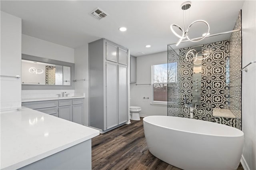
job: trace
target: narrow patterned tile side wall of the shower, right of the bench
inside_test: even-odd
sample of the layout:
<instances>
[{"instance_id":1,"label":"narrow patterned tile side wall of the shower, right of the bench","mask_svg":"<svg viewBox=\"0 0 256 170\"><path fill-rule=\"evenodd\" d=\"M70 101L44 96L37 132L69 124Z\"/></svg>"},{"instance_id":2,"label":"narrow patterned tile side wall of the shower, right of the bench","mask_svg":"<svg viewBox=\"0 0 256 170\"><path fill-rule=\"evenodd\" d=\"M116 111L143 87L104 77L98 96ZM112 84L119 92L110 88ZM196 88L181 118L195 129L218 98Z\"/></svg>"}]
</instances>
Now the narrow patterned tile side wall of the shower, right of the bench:
<instances>
[{"instance_id":1,"label":"narrow patterned tile side wall of the shower, right of the bench","mask_svg":"<svg viewBox=\"0 0 256 170\"><path fill-rule=\"evenodd\" d=\"M234 30L241 28L241 11ZM236 128L241 129L241 69L242 66L242 38L241 32L233 32L230 36L230 111L236 116Z\"/></svg>"}]
</instances>

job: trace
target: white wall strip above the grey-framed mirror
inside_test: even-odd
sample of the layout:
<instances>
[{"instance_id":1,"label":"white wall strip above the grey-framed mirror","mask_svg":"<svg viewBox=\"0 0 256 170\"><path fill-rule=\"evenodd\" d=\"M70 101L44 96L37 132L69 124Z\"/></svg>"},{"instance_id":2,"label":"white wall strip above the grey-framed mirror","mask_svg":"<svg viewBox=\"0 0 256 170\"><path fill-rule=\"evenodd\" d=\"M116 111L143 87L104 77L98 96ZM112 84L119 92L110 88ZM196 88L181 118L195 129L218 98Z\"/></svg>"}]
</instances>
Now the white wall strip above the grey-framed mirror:
<instances>
[{"instance_id":1,"label":"white wall strip above the grey-framed mirror","mask_svg":"<svg viewBox=\"0 0 256 170\"><path fill-rule=\"evenodd\" d=\"M74 63L74 49L22 34L22 53Z\"/></svg>"}]
</instances>

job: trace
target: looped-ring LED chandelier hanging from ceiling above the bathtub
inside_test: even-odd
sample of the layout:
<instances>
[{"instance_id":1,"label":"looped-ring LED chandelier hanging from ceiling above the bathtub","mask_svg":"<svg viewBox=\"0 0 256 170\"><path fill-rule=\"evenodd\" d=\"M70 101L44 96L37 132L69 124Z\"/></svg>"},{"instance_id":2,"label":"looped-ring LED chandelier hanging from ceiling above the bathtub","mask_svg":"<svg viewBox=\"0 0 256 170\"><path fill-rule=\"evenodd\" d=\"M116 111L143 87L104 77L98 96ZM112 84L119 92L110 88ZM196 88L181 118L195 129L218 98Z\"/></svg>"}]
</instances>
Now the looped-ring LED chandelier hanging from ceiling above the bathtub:
<instances>
[{"instance_id":1,"label":"looped-ring LED chandelier hanging from ceiling above the bathtub","mask_svg":"<svg viewBox=\"0 0 256 170\"><path fill-rule=\"evenodd\" d=\"M190 7L191 7L191 2L190 2L190 1L184 2L184 3L181 5L181 9L183 10L183 23L184 23L184 12L185 12L185 19L186 19L186 10L188 10ZM197 38L197 39L190 39L190 38L188 37L189 29L191 28L191 26L192 26L193 24L195 24L195 23L197 23L197 22L202 22L202 23L206 24L206 26L207 26L207 32L206 32L206 34L205 34L204 36L202 36L202 37L200 37L200 38ZM185 27L184 27L184 26L185 26ZM191 42L198 42L198 41L201 41L201 40L203 40L203 39L207 36L207 34L208 34L209 31L210 31L210 26L209 26L209 24L208 24L206 21L204 21L204 20L196 20L196 21L192 22L192 23L188 26L188 28L187 28L186 26L187 26L186 20L185 20L185 25L183 24L183 28L181 28L181 27L178 26L177 24L172 24L172 25L170 26L170 28L171 28L171 30L172 30L172 33L173 33L175 36L177 36L178 38L180 38L180 40L176 43L176 46L178 46L178 45L180 44L180 42L181 42L183 39L185 39L185 38L187 38L187 39L188 39L189 41L191 41ZM179 34L177 34L177 33L174 31L173 27L178 28L178 29L182 32L182 36L180 36Z\"/></svg>"}]
</instances>

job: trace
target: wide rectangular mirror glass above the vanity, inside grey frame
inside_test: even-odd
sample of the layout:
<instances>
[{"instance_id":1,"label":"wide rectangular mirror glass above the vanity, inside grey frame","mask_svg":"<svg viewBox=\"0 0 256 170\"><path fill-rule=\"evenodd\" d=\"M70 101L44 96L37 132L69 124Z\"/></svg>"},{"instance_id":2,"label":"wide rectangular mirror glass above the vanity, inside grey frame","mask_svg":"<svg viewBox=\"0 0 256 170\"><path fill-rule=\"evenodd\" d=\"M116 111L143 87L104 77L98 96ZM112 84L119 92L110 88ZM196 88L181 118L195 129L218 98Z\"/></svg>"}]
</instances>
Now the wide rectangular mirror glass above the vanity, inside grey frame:
<instances>
[{"instance_id":1,"label":"wide rectangular mirror glass above the vanity, inside grey frame","mask_svg":"<svg viewBox=\"0 0 256 170\"><path fill-rule=\"evenodd\" d=\"M21 81L23 85L70 86L71 68L38 61L21 60Z\"/></svg>"}]
</instances>

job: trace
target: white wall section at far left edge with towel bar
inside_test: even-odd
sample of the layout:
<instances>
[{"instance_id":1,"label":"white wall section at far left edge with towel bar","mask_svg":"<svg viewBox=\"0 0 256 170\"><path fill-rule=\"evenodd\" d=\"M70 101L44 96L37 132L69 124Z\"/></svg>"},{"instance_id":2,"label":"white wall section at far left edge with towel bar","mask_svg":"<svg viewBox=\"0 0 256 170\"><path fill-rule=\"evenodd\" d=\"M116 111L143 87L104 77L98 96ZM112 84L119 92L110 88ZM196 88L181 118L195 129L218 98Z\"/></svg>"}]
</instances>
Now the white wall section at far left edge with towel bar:
<instances>
[{"instance_id":1,"label":"white wall section at far left edge with towel bar","mask_svg":"<svg viewBox=\"0 0 256 170\"><path fill-rule=\"evenodd\" d=\"M1 11L0 75L21 76L21 19ZM1 109L21 106L21 80L1 77Z\"/></svg>"}]
</instances>

